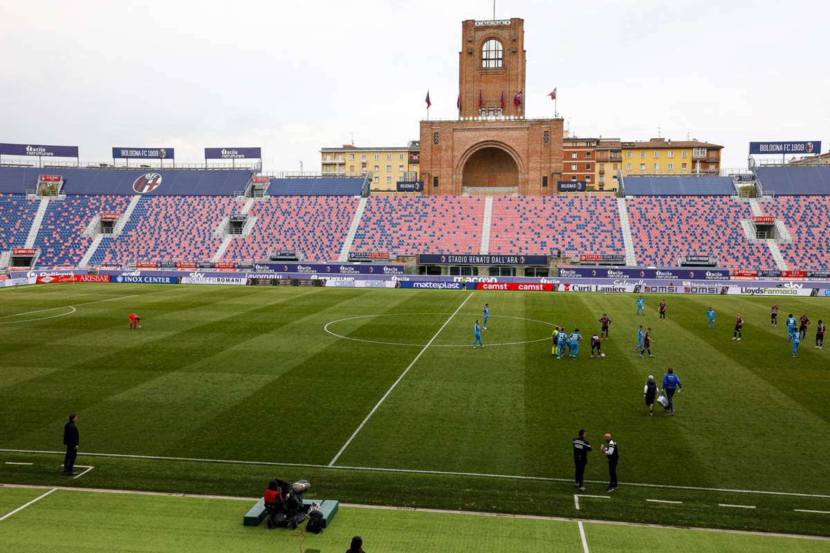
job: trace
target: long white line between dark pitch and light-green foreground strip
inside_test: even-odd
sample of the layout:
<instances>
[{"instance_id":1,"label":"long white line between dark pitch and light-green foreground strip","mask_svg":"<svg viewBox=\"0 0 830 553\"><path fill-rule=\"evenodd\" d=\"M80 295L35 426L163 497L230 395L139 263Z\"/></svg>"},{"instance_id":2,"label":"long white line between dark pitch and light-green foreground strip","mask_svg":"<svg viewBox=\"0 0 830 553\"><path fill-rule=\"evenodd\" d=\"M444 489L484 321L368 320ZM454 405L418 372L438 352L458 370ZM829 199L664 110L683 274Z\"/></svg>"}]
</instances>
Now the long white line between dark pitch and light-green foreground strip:
<instances>
[{"instance_id":1,"label":"long white line between dark pitch and light-green foreground strip","mask_svg":"<svg viewBox=\"0 0 830 553\"><path fill-rule=\"evenodd\" d=\"M46 490L52 488L51 486L41 486L39 484L4 484L0 483L0 488L26 488ZM148 492L145 490L116 490L112 488L81 488L77 486L57 486L55 489L66 490L68 492L95 492L95 493L129 493L134 495L145 496L159 496L159 497L190 497L198 499L228 499L233 501L259 501L261 497L242 497L242 496L220 496L220 495L206 495L201 493L177 493L177 492ZM609 497L610 496L594 496L594 497ZM784 534L782 532L762 532L751 530L730 530L728 528L710 528L706 526L669 526L666 524L649 524L647 522L628 522L628 521L603 521L593 518L572 518L572 517L549 517L545 515L520 515L509 512L483 512L483 511L459 511L455 509L432 509L429 507L400 507L396 505L364 505L363 503L340 503L340 507L357 508L357 509L380 509L382 511L420 511L420 512L435 512L447 515L461 515L472 517L497 517L497 518L524 518L535 521L561 521L561 522L584 522L586 524L606 524L611 526L637 526L640 528L670 528L673 530L694 530L707 532L721 532L724 534L741 534L744 536L769 536L769 537L789 537L799 538L805 540L820 540L830 541L830 536L812 536L809 534ZM798 509L795 509L798 511ZM818 511L823 512L823 511ZM830 512L830 511L828 511Z\"/></svg>"}]
</instances>

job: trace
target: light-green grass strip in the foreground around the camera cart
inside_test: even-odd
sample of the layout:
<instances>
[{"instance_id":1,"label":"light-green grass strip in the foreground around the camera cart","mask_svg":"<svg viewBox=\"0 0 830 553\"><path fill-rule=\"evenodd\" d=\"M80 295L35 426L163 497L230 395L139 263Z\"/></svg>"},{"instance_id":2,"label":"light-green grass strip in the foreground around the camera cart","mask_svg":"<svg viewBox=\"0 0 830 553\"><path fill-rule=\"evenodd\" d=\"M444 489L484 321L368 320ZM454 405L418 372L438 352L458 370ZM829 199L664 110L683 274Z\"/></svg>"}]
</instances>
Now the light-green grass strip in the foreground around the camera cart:
<instances>
[{"instance_id":1,"label":"light-green grass strip in the foreground around the camera cart","mask_svg":"<svg viewBox=\"0 0 830 553\"><path fill-rule=\"evenodd\" d=\"M0 516L45 491L0 488ZM305 534L303 541L288 530L268 530L264 523L242 526L249 505L232 499L58 490L0 521L0 527L4 546L20 553L61 550L66 544L84 552L300 551L300 543L306 553L339 553L354 535L363 537L367 551L582 551L574 521L341 507L329 528ZM596 523L585 523L584 531L594 553L643 551L643 544L660 544L662 551L830 551L828 541L775 536Z\"/></svg>"}]
</instances>

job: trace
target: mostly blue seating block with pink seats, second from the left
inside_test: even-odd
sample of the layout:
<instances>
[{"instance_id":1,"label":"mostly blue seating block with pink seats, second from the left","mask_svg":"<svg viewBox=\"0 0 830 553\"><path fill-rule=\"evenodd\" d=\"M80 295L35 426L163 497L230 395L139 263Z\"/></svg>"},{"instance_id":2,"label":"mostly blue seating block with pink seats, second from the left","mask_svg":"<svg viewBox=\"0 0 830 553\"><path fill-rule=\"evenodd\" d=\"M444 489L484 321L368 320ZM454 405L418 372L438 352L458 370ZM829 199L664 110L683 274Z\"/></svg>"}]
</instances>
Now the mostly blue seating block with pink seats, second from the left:
<instances>
[{"instance_id":1,"label":"mostly blue seating block with pink seats, second from the left","mask_svg":"<svg viewBox=\"0 0 830 553\"><path fill-rule=\"evenodd\" d=\"M41 249L39 267L74 267L81 261L91 237L81 233L100 213L124 211L127 196L66 196L51 201L37 231L35 248Z\"/></svg>"}]
</instances>

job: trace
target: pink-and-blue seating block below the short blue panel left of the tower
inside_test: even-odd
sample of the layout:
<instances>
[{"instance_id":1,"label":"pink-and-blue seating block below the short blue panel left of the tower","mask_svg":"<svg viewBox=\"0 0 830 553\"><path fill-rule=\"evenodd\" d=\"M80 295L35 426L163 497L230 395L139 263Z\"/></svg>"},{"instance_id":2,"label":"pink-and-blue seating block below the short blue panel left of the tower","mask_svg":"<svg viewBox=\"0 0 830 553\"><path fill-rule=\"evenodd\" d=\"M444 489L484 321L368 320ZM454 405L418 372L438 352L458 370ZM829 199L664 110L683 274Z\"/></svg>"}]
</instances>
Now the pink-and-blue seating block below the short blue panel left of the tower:
<instances>
[{"instance_id":1,"label":"pink-and-blue seating block below the short blue panel left of the tower","mask_svg":"<svg viewBox=\"0 0 830 553\"><path fill-rule=\"evenodd\" d=\"M272 250L297 250L304 260L337 260L358 202L352 196L271 196L256 201L248 211L248 216L256 216L251 234L233 240L222 261L265 260Z\"/></svg>"}]
</instances>

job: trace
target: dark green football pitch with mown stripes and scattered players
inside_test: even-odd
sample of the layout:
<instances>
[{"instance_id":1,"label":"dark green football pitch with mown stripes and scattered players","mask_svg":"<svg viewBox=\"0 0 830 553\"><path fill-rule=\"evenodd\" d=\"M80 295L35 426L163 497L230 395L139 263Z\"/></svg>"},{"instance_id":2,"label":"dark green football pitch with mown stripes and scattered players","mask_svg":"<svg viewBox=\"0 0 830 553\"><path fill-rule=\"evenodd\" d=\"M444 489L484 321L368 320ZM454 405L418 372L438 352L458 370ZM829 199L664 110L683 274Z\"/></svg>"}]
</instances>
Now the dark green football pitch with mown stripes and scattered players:
<instances>
[{"instance_id":1,"label":"dark green football pitch with mown stripes and scattered players","mask_svg":"<svg viewBox=\"0 0 830 553\"><path fill-rule=\"evenodd\" d=\"M146 284L4 290L0 483L258 497L271 478L306 478L307 497L365 505L830 533L830 351L813 348L830 302L666 297L668 320L658 322L661 297L647 297L645 317L635 315L634 298ZM485 303L486 347L473 349ZM772 303L778 327L769 325ZM129 331L129 313L142 318L140 330ZM603 313L612 319L607 357L591 359L588 339ZM740 341L732 340L735 313L745 319ZM797 358L789 313L813 321ZM577 360L551 356L554 324L579 327ZM640 324L653 329L654 358L634 352ZM649 416L643 384L650 374L662 381L668 366L684 386L676 417ZM79 414L77 463L94 467L72 481L54 453L70 412ZM588 489L574 496L579 429L593 452ZM612 493L604 492L608 463L598 450L606 432L620 451ZM0 525L72 493L81 492L59 490ZM216 511L232 511L228 527L242 532L247 507L223 501L234 507ZM345 527L350 517L428 514L353 508L335 517L331 534L360 533ZM473 519L532 526L465 520ZM396 524L407 523L390 519L388 527ZM573 533L573 522L561 524ZM584 526L591 551L626 551L625 536L668 531ZM609 537L592 541L592 532ZM578 531L576 539L579 546Z\"/></svg>"}]
</instances>

